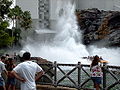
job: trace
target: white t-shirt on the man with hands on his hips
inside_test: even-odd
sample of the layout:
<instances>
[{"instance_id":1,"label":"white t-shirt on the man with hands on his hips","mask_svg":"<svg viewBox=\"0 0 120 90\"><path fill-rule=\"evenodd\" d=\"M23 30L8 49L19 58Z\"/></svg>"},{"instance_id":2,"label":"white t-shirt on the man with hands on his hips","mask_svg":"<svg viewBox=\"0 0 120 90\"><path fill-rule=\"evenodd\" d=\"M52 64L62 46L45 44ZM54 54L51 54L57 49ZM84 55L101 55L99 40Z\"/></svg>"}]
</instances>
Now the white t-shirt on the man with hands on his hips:
<instances>
[{"instance_id":1,"label":"white t-shirt on the man with hands on his hips","mask_svg":"<svg viewBox=\"0 0 120 90\"><path fill-rule=\"evenodd\" d=\"M37 70L39 66L32 61L25 61L18 66L21 70L17 73L26 80L25 83L21 84L21 87L24 89L26 88L25 90L35 90L35 74L36 72L40 72L40 70Z\"/></svg>"}]
</instances>

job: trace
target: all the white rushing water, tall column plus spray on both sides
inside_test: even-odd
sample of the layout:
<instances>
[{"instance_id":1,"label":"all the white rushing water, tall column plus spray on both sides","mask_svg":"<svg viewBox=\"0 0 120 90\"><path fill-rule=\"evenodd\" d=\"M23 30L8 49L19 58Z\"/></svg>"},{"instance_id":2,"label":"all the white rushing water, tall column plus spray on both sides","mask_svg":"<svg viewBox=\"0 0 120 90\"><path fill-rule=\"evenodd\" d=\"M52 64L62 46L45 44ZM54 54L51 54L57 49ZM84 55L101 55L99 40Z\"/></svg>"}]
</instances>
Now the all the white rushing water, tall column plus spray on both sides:
<instances>
[{"instance_id":1,"label":"all the white rushing water, tall column plus spray on both sides","mask_svg":"<svg viewBox=\"0 0 120 90\"><path fill-rule=\"evenodd\" d=\"M37 41L29 38L23 50L30 51L32 56L39 56L59 63L80 61L82 64L90 64L89 60L82 59L82 57L99 55L108 60L109 64L119 65L119 48L98 48L94 45L86 47L82 44L82 32L77 26L74 15L75 7L67 0L65 1L64 3L59 2L56 7L58 18L55 30L47 30L47 32L36 30Z\"/></svg>"}]
</instances>

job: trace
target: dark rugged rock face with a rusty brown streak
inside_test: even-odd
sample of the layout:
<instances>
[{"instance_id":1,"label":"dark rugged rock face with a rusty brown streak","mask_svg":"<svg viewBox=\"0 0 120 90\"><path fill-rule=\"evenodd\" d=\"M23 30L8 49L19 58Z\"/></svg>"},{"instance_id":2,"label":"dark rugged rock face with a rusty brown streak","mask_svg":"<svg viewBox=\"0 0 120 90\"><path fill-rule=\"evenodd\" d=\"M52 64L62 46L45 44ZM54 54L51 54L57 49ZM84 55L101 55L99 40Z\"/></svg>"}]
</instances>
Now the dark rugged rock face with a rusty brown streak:
<instances>
[{"instance_id":1,"label":"dark rugged rock face with a rusty brown streak","mask_svg":"<svg viewBox=\"0 0 120 90\"><path fill-rule=\"evenodd\" d=\"M76 15L85 45L107 41L104 46L120 47L120 12L93 8L77 11Z\"/></svg>"}]
</instances>

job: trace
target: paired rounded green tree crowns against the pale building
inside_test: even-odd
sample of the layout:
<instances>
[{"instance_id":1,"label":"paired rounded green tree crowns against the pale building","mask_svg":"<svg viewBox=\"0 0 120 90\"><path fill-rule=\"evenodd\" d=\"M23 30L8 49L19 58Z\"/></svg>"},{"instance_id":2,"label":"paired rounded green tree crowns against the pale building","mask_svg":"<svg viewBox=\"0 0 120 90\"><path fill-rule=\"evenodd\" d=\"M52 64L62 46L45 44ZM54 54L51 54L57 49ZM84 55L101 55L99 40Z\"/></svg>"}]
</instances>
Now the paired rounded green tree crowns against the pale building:
<instances>
[{"instance_id":1,"label":"paired rounded green tree crowns against the pale building","mask_svg":"<svg viewBox=\"0 0 120 90\"><path fill-rule=\"evenodd\" d=\"M15 6L14 8L10 9L8 17L12 18L13 21L16 20L16 24L19 24L25 30L31 28L32 19L30 12L23 12L19 6Z\"/></svg>"}]
</instances>

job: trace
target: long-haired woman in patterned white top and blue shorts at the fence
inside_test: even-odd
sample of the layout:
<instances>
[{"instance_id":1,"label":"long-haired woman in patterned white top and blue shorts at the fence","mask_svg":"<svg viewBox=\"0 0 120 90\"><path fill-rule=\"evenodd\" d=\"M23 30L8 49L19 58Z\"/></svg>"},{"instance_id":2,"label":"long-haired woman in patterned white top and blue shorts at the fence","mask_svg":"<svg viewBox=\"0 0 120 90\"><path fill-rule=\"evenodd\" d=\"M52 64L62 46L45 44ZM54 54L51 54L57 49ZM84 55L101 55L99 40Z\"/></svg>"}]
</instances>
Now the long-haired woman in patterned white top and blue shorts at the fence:
<instances>
[{"instance_id":1,"label":"long-haired woman in patterned white top and blue shorts at the fence","mask_svg":"<svg viewBox=\"0 0 120 90\"><path fill-rule=\"evenodd\" d=\"M102 81L102 76L103 76L102 69L99 66L99 62L100 62L99 56L97 56L97 55L94 56L94 59L91 63L91 67L90 67L91 79L93 80L94 88L96 90L99 90L100 84Z\"/></svg>"}]
</instances>

